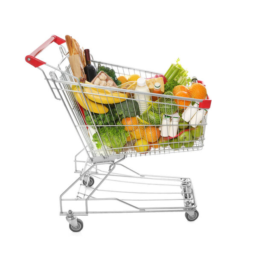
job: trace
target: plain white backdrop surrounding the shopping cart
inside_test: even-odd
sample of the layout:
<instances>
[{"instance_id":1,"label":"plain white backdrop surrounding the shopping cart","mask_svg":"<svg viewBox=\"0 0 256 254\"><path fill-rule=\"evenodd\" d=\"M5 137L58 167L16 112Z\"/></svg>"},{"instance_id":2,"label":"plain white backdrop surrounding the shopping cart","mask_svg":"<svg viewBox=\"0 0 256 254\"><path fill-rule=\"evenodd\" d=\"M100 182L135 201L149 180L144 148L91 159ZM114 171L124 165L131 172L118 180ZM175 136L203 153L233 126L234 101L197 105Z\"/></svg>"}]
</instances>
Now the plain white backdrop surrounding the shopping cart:
<instances>
[{"instance_id":1,"label":"plain white backdrop surrounding the shopping cart","mask_svg":"<svg viewBox=\"0 0 256 254\"><path fill-rule=\"evenodd\" d=\"M57 3L58 2L58 3ZM2 6L2 253L249 253L255 248L254 1L12 1ZM96 214L72 233L58 197L78 176L80 141L41 72L24 60L70 34L97 60L161 73L179 57L212 99L202 151L125 160L191 177L199 218ZM58 47L39 59L55 65Z\"/></svg>"}]
</instances>

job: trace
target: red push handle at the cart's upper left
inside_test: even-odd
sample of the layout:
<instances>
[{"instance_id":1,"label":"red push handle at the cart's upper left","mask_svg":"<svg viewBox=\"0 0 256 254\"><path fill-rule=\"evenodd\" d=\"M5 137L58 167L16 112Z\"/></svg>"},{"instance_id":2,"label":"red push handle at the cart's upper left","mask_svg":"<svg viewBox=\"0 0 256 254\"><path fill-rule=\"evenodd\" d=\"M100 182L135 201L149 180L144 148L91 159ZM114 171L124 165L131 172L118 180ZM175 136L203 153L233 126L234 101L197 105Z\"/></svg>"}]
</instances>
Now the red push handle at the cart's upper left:
<instances>
[{"instance_id":1,"label":"red push handle at the cart's upper left","mask_svg":"<svg viewBox=\"0 0 256 254\"><path fill-rule=\"evenodd\" d=\"M57 43L58 45L61 45L62 43L66 42L66 41L56 35L52 35L52 37L50 37L46 42L44 42L41 46L39 46L31 54L29 54L25 57L26 62L31 64L34 67L39 67L39 66L45 64L46 62L39 60L38 58L36 58L36 56L53 42Z\"/></svg>"}]
</instances>

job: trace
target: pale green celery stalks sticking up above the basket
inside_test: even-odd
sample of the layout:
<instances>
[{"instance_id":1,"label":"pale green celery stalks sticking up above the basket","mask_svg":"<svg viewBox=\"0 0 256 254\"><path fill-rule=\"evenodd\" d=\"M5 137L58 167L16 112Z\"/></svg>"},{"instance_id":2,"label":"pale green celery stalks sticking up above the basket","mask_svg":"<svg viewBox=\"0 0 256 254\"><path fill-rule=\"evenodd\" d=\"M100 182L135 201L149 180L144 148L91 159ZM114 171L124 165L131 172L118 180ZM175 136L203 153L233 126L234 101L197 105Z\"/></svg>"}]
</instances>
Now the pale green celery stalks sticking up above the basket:
<instances>
[{"instance_id":1,"label":"pale green celery stalks sticking up above the basket","mask_svg":"<svg viewBox=\"0 0 256 254\"><path fill-rule=\"evenodd\" d=\"M188 71L180 65L179 61L180 59L178 58L176 64L172 63L168 71L166 71L165 77L167 82L175 80L180 85L186 86L190 82L190 78L187 75Z\"/></svg>"}]
</instances>

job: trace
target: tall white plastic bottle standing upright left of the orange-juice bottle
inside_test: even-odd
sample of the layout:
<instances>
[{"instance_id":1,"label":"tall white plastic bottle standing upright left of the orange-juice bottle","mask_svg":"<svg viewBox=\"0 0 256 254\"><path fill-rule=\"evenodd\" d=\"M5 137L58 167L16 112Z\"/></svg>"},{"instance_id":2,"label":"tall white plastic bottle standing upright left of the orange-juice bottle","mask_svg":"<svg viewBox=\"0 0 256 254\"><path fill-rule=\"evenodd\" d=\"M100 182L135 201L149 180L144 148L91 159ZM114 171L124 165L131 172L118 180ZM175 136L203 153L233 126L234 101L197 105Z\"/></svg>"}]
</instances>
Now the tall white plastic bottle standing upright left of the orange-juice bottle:
<instances>
[{"instance_id":1,"label":"tall white plastic bottle standing upright left of the orange-juice bottle","mask_svg":"<svg viewBox=\"0 0 256 254\"><path fill-rule=\"evenodd\" d=\"M138 78L137 80L137 86L135 88L135 91L138 92L148 92L150 93L148 86L146 85L146 80L143 77ZM139 108L140 108L140 114L143 114L144 111L146 111L146 109L149 106L149 103L146 101L151 100L151 96L147 95L147 94L137 94L134 93L134 99L137 101L137 103L139 104Z\"/></svg>"}]
</instances>

